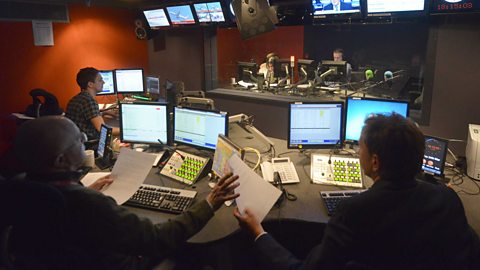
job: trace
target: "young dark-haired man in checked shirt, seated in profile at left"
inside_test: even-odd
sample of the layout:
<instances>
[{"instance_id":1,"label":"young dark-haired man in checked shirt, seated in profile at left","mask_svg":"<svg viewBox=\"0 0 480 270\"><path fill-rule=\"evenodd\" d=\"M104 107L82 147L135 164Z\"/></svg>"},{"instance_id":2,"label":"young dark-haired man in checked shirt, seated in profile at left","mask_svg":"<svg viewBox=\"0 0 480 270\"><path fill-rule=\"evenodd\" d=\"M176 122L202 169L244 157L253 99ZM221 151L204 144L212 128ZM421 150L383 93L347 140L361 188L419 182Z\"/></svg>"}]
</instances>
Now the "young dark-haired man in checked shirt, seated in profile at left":
<instances>
[{"instance_id":1,"label":"young dark-haired man in checked shirt, seated in profile at left","mask_svg":"<svg viewBox=\"0 0 480 270\"><path fill-rule=\"evenodd\" d=\"M80 86L80 93L68 102L65 116L87 134L88 140L97 140L104 121L95 96L102 91L105 82L96 68L86 67L77 73L77 84ZM114 127L112 135L119 134L120 129Z\"/></svg>"}]
</instances>

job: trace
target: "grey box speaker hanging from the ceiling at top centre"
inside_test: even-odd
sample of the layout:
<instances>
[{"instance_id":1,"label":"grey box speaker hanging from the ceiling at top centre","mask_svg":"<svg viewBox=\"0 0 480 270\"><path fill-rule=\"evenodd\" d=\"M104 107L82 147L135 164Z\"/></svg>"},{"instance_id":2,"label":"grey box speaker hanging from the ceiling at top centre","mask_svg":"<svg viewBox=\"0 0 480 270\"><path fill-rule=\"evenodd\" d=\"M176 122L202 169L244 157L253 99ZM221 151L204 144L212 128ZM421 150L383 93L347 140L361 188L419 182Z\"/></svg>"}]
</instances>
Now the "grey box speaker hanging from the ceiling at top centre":
<instances>
[{"instance_id":1,"label":"grey box speaker hanging from the ceiling at top centre","mask_svg":"<svg viewBox=\"0 0 480 270\"><path fill-rule=\"evenodd\" d=\"M277 13L267 0L233 0L237 27L242 39L248 39L275 29Z\"/></svg>"}]
</instances>

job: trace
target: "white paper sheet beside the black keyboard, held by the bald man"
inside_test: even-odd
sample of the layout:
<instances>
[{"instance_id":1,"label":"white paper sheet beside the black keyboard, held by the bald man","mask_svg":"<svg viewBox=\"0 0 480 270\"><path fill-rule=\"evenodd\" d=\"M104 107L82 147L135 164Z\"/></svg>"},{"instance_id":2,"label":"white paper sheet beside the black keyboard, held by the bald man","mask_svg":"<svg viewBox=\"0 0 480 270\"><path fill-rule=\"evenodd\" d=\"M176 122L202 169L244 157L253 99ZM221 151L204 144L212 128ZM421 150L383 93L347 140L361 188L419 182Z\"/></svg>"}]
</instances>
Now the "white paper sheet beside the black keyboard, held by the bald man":
<instances>
[{"instance_id":1,"label":"white paper sheet beside the black keyboard, held by the bald man","mask_svg":"<svg viewBox=\"0 0 480 270\"><path fill-rule=\"evenodd\" d=\"M103 194L114 198L117 204L126 202L147 177L155 158L150 153L121 148L112 170L115 181Z\"/></svg>"}]
</instances>

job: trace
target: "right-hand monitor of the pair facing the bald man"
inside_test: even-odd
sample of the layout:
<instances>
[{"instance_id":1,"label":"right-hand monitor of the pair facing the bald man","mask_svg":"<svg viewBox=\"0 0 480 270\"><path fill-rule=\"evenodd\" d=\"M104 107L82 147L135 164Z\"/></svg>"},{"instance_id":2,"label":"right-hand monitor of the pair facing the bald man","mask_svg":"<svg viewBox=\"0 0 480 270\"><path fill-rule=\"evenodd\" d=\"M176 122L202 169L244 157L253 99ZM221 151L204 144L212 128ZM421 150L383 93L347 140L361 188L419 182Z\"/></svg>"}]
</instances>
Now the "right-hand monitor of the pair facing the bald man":
<instances>
[{"instance_id":1,"label":"right-hand monitor of the pair facing the bald man","mask_svg":"<svg viewBox=\"0 0 480 270\"><path fill-rule=\"evenodd\" d=\"M197 108L174 108L175 142L215 150L219 134L228 135L228 113Z\"/></svg>"}]
</instances>

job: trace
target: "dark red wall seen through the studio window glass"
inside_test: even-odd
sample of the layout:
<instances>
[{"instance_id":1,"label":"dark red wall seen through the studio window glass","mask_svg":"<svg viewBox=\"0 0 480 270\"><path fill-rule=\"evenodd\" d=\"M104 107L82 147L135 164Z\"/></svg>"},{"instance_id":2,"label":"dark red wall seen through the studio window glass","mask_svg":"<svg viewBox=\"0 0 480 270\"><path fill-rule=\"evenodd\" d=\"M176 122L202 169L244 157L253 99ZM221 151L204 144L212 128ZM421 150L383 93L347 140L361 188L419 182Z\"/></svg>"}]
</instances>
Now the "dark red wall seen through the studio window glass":
<instances>
[{"instance_id":1,"label":"dark red wall seen through the studio window glass","mask_svg":"<svg viewBox=\"0 0 480 270\"><path fill-rule=\"evenodd\" d=\"M218 81L220 85L229 83L231 77L237 76L237 61L257 64L265 60L269 52L275 52L280 58L303 58L303 26L282 26L272 32L242 40L237 28L219 28L217 30L218 46Z\"/></svg>"}]
</instances>

